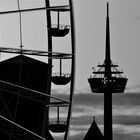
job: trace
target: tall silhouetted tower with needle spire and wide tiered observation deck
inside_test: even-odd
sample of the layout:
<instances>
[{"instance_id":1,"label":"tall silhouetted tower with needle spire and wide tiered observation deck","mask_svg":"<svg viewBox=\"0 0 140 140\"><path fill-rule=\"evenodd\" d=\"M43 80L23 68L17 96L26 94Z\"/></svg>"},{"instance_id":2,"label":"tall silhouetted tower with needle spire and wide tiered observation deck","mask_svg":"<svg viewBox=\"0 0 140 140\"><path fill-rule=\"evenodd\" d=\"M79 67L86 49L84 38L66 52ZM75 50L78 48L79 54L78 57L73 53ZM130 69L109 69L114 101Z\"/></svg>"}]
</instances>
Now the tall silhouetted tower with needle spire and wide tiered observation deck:
<instances>
[{"instance_id":1,"label":"tall silhouetted tower with needle spire and wide tiered observation deck","mask_svg":"<svg viewBox=\"0 0 140 140\"><path fill-rule=\"evenodd\" d=\"M117 70L118 65L111 61L108 5L107 3L105 61L98 65L98 71L93 71L95 75L88 82L92 92L104 93L104 139L112 140L112 93L123 93L127 78L121 75L122 71Z\"/></svg>"}]
</instances>

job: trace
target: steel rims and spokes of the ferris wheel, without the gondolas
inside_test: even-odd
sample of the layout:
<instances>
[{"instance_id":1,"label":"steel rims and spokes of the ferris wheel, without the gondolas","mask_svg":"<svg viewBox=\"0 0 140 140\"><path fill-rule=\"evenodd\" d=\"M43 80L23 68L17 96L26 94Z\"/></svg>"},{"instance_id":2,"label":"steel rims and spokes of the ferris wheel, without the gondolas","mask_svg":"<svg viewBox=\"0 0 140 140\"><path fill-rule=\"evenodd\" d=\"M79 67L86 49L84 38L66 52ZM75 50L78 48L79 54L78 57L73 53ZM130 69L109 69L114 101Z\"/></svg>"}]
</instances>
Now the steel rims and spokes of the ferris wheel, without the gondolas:
<instances>
[{"instance_id":1,"label":"steel rims and spokes of the ferris wheel, without the gondolas","mask_svg":"<svg viewBox=\"0 0 140 140\"><path fill-rule=\"evenodd\" d=\"M71 60L71 80L70 80L70 91L69 91L69 100L63 100L51 95L52 92L52 67L48 69L48 79L47 79L47 91L46 93L41 93L29 88L25 88L22 86L18 86L12 83L8 83L5 81L0 81L0 91L8 91L12 94L19 93L19 96L24 98L29 98L31 100L36 100L39 103L45 104L46 109L42 127L42 134L41 136L33 133L32 131L20 126L19 124L15 123L12 120L9 120L2 115L0 115L0 131L4 131L7 134L11 133L10 127L14 127L13 137L17 140L27 140L27 139L37 139L37 140L47 140L48 134L46 134L46 129L48 129L49 123L49 109L48 107L51 106L67 106L68 107L68 114L66 120L66 130L64 133L64 140L67 140L69 134L69 126L70 126L70 119L71 119L71 111L72 111L72 100L74 94L74 81L75 81L75 26L74 26L74 13L73 13L73 2L72 0L68 0L69 5L61 5L61 6L50 6L51 0L45 0L45 7L39 8L32 8L32 9L20 9L20 10L13 10L13 11L1 11L0 15L5 14L15 14L15 13L22 13L22 12L32 12L32 11L39 11L45 10L46 11L46 19L47 19L47 30L48 30L48 51L40 51L40 50L25 50L25 49L17 49L17 48L9 48L9 47L0 47L1 53L13 53L13 54L24 54L24 55L32 55L32 56L44 56L48 57L48 65L52 66L53 59L70 59ZM63 52L53 52L52 51L52 35L50 33L51 28L51 11L62 11L62 12L69 12L70 15L70 39L71 39L71 54L63 53ZM20 92L19 92L20 91ZM46 99L46 102L42 99ZM50 102L50 99L54 99L54 102ZM7 108L7 104L5 104L5 108Z\"/></svg>"}]
</instances>

